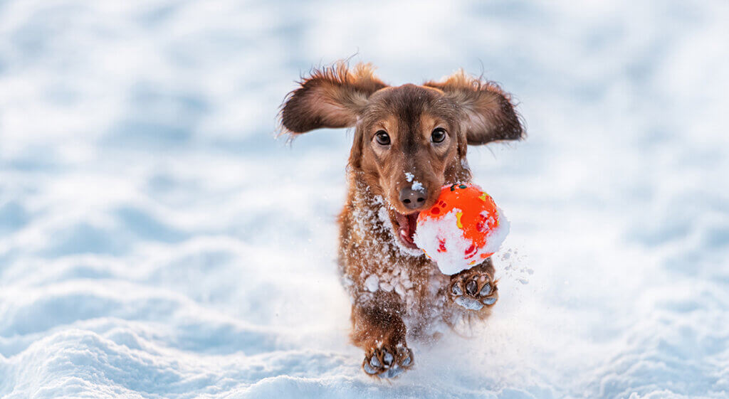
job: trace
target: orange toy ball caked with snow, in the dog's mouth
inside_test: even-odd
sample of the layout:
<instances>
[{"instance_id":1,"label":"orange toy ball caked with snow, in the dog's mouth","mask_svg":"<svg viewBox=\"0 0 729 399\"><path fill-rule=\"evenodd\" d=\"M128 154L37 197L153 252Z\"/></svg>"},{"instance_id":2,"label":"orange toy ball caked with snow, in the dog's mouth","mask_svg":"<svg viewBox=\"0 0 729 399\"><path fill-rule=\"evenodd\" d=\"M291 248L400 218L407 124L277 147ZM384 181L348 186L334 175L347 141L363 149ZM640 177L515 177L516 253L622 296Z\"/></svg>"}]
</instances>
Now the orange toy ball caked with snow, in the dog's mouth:
<instances>
[{"instance_id":1,"label":"orange toy ball caked with snow, in the dog's mouth","mask_svg":"<svg viewBox=\"0 0 729 399\"><path fill-rule=\"evenodd\" d=\"M456 274L493 255L507 234L509 221L491 196L475 184L453 184L420 213L413 239L440 272Z\"/></svg>"}]
</instances>

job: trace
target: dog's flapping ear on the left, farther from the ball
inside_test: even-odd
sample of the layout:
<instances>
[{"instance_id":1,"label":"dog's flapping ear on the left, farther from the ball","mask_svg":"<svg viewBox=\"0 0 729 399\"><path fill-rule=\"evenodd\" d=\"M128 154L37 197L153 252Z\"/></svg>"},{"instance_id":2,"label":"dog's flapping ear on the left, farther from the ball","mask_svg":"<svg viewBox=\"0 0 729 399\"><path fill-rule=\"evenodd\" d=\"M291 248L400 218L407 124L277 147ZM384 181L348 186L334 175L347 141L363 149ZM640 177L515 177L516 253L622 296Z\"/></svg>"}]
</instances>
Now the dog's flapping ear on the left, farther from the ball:
<instances>
[{"instance_id":1,"label":"dog's flapping ear on the left, farther from the ball","mask_svg":"<svg viewBox=\"0 0 729 399\"><path fill-rule=\"evenodd\" d=\"M387 87L370 64L348 68L344 62L315 69L281 106L283 133L299 135L321 127L354 126L373 92Z\"/></svg>"}]
</instances>

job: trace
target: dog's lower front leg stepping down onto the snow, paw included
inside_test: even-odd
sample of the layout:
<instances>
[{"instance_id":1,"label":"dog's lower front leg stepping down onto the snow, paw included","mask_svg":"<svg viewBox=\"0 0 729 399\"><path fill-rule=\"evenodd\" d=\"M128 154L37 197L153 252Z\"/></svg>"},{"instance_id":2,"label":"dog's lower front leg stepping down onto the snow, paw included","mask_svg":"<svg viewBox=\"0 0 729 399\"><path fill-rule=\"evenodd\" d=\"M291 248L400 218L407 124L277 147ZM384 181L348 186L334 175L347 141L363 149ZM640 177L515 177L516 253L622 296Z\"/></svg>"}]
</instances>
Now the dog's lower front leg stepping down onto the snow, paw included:
<instances>
[{"instance_id":1,"label":"dog's lower front leg stepping down onto the snow, paw included","mask_svg":"<svg viewBox=\"0 0 729 399\"><path fill-rule=\"evenodd\" d=\"M413 366L405 333L405 323L394 312L374 305L352 307L351 338L364 349L362 369L370 376L393 378Z\"/></svg>"}]
</instances>

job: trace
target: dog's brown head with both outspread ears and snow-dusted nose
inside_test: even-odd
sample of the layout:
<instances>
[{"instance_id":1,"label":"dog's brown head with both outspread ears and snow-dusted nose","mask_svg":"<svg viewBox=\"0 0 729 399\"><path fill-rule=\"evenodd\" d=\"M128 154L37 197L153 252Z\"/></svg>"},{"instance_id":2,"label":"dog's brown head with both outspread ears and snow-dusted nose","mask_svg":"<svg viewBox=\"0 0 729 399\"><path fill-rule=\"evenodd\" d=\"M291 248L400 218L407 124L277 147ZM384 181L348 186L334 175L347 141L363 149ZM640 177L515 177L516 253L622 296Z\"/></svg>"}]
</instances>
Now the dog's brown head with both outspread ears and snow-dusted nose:
<instances>
[{"instance_id":1,"label":"dog's brown head with both outspread ears and snow-dusted nose","mask_svg":"<svg viewBox=\"0 0 729 399\"><path fill-rule=\"evenodd\" d=\"M518 140L523 127L510 95L459 71L443 82L390 87L367 64L313 71L284 100L284 132L355 127L352 170L389 203L394 235L415 248L421 210L440 187L467 181L467 145Z\"/></svg>"}]
</instances>

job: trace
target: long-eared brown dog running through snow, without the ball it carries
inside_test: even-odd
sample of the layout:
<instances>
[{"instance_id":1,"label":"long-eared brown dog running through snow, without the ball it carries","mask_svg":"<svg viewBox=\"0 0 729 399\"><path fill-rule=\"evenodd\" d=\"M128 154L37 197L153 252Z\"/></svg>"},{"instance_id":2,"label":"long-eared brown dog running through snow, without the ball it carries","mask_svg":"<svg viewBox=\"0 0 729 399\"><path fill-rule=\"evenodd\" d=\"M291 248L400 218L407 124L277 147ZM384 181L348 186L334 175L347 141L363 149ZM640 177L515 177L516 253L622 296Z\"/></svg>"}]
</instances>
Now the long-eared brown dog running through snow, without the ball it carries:
<instances>
[{"instance_id":1,"label":"long-eared brown dog running through snow, without the ball it carries","mask_svg":"<svg viewBox=\"0 0 729 399\"><path fill-rule=\"evenodd\" d=\"M408 337L488 317L498 298L491 259L448 276L413 233L441 186L471 180L468 144L523 138L510 95L463 71L444 82L390 87L369 65L338 63L289 93L281 125L292 136L355 128L339 264L352 301L351 339L364 349L367 374L391 378L412 367Z\"/></svg>"}]
</instances>

